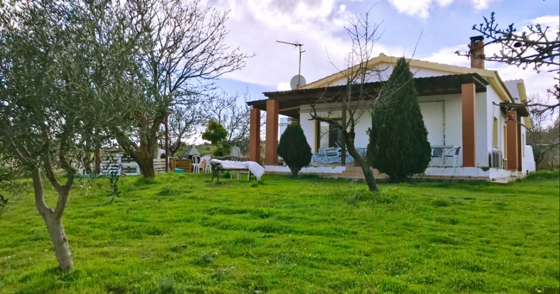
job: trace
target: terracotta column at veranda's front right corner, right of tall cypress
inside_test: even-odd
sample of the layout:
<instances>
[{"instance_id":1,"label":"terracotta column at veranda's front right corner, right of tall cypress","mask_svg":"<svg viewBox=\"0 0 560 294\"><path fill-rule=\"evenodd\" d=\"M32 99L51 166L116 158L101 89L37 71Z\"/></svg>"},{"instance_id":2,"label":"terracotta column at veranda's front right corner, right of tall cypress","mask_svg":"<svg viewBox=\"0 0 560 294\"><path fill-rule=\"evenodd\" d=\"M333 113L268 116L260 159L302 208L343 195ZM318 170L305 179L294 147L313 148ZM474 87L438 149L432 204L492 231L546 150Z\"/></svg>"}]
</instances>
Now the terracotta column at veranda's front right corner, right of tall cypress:
<instances>
[{"instance_id":1,"label":"terracotta column at veranda's front right corner, right of tall cypress","mask_svg":"<svg viewBox=\"0 0 560 294\"><path fill-rule=\"evenodd\" d=\"M463 102L463 166L477 166L477 136L475 115L476 90L474 84L461 85Z\"/></svg>"}]
</instances>

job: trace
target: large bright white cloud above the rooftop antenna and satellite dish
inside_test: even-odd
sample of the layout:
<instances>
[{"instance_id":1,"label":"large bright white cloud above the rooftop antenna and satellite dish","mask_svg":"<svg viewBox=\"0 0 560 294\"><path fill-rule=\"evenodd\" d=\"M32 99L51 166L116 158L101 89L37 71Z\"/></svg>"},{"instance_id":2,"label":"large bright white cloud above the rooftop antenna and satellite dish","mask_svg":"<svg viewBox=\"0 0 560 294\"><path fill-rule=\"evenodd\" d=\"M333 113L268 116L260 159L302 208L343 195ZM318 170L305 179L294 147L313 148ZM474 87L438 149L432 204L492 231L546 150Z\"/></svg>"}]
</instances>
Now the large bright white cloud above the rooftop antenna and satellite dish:
<instances>
[{"instance_id":1,"label":"large bright white cloud above the rooftop antenna and satellite dish","mask_svg":"<svg viewBox=\"0 0 560 294\"><path fill-rule=\"evenodd\" d=\"M214 0L217 9L231 9L226 27L230 30L227 44L240 46L244 52L255 52L246 67L224 75L224 78L279 87L298 73L298 50L276 41L301 42L301 74L307 82L315 81L344 68L344 55L351 47L343 33L344 25L354 17L342 0ZM381 40L382 41L382 40ZM327 54L328 51L328 54ZM376 44L375 54L399 53ZM289 86L289 84L288 84Z\"/></svg>"}]
</instances>

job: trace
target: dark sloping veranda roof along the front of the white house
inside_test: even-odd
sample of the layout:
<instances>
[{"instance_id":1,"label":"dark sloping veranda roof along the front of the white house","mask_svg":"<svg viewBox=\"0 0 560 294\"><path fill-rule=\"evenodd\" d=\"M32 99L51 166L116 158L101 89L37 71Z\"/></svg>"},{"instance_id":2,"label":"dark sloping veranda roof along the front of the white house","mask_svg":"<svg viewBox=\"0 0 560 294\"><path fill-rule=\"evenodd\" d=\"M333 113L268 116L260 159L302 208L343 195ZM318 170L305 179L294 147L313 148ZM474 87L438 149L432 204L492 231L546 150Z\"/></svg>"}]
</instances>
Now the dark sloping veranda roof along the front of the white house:
<instances>
[{"instance_id":1,"label":"dark sloping veranda roof along the front of the white house","mask_svg":"<svg viewBox=\"0 0 560 294\"><path fill-rule=\"evenodd\" d=\"M365 83L364 88L372 94L382 87L384 82ZM444 95L444 94L460 94L461 85L475 84L477 92L486 92L486 81L477 73L473 74L451 74L442 76L430 76L427 78L414 78L414 85L419 96L427 95ZM352 88L351 91L356 91ZM321 88L311 89L295 89L288 91L264 92L268 99L277 100L279 103L279 114L288 117L299 118L300 105L309 104L317 99L337 98L346 95L347 85L341 86L325 86ZM256 100L247 102L254 108L267 110L267 100Z\"/></svg>"}]
</instances>

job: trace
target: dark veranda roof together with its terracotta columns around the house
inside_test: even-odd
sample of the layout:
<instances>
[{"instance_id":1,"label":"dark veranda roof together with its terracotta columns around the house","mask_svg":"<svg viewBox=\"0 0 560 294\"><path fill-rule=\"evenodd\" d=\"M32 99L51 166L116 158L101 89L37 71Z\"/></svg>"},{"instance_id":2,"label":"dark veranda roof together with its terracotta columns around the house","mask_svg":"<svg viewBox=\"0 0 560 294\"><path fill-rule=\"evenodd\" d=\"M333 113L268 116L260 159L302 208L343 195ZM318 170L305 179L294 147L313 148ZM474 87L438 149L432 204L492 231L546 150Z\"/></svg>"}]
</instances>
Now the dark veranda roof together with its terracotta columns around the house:
<instances>
[{"instance_id":1,"label":"dark veranda roof together with its terracotta columns around the house","mask_svg":"<svg viewBox=\"0 0 560 294\"><path fill-rule=\"evenodd\" d=\"M415 78L414 84L418 91L419 97L428 95L445 95L460 94L461 98L461 131L462 131L462 153L463 167L475 167L477 162L476 147L476 94L487 91L488 81L479 74L450 74L442 76L431 76L426 78ZM367 83L365 88L374 92L381 88L381 82ZM295 89L288 91L273 91L263 93L268 99L256 100L247 104L253 107L250 112L250 146L249 157L251 161L258 161L260 155L260 111L266 111L266 138L265 138L265 166L278 165L278 115L286 115L292 118L292 123L299 122L300 108L302 105L310 105L318 99L326 101L337 100L339 97L347 97L347 86L327 86L323 88L312 89ZM375 94L375 93L372 93ZM374 95L372 95L374 96ZM341 103L341 110L344 104ZM509 113L515 116L515 110ZM342 111L345 122L346 111ZM511 125L511 126L510 126ZM512 136L508 136L508 146L511 144L517 147L519 139L516 138L517 126L515 121L508 122L508 133L512 132ZM515 129L515 132L513 131ZM358 136L359 134L357 134ZM365 134L364 134L365 135ZM511 142L509 142L511 138ZM315 146L312 146L314 148ZM342 150L346 150L346 142L342 140ZM508 148L508 151L513 148ZM316 150L316 148L315 148ZM518 148L515 148L515 152ZM520 152L519 152L520 153ZM342 152L342 160L340 165L346 165L346 152ZM517 157L517 156L512 156ZM516 160L508 161L508 169L517 168Z\"/></svg>"}]
</instances>

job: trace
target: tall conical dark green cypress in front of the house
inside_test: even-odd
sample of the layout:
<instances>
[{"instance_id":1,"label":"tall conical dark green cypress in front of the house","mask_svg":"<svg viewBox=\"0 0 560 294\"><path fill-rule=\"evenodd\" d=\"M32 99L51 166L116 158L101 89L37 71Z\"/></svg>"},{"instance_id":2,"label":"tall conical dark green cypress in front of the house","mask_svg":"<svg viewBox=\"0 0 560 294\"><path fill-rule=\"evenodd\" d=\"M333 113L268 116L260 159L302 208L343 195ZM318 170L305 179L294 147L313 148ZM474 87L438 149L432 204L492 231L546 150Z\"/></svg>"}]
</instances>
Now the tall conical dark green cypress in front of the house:
<instances>
[{"instance_id":1,"label":"tall conical dark green cypress in front of the house","mask_svg":"<svg viewBox=\"0 0 560 294\"><path fill-rule=\"evenodd\" d=\"M414 76L404 57L396 62L383 91L371 112L367 157L372 167L400 182L424 172L431 153Z\"/></svg>"}]
</instances>

